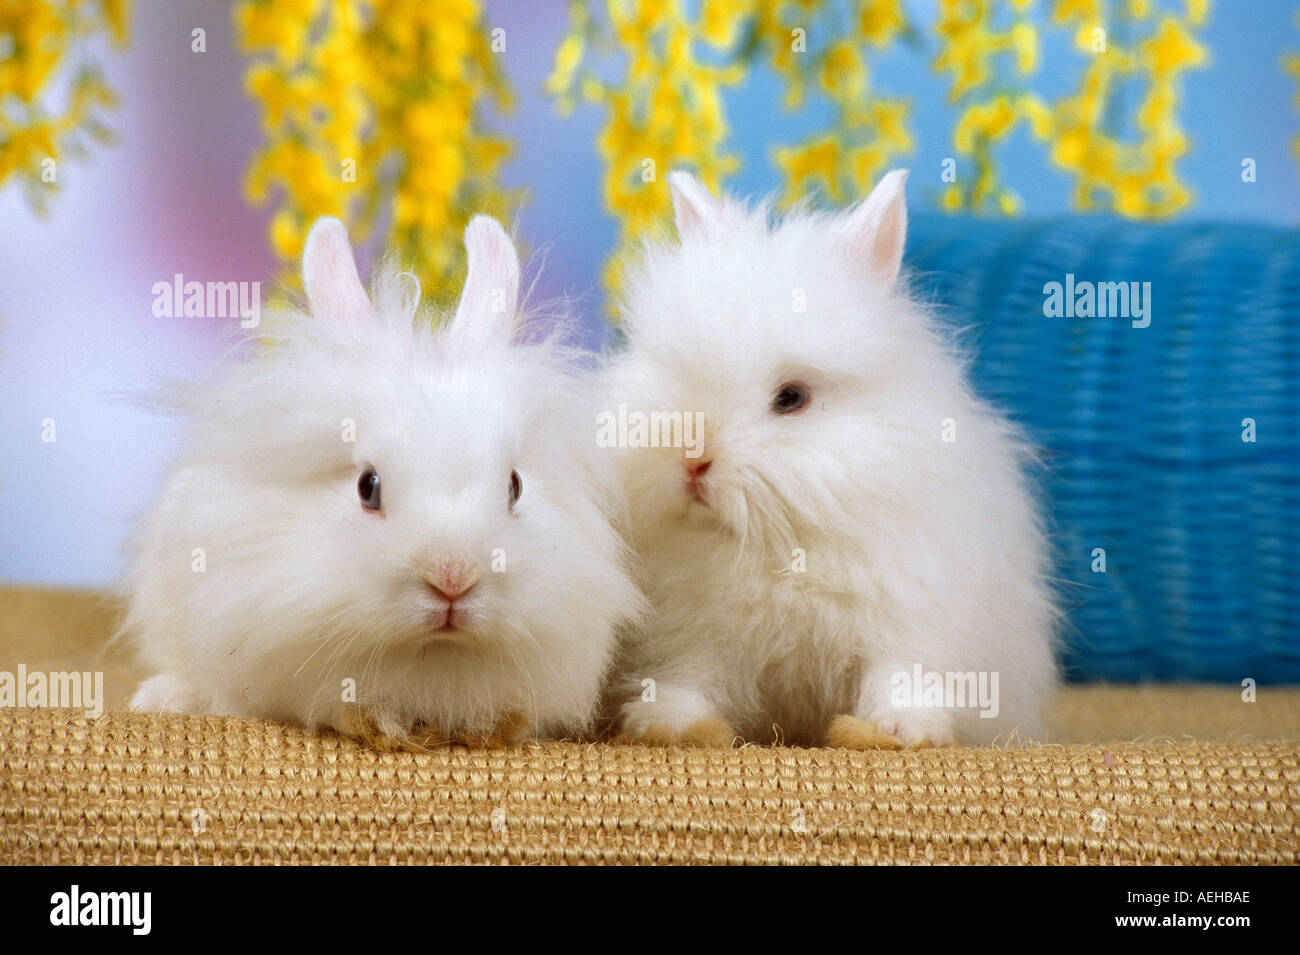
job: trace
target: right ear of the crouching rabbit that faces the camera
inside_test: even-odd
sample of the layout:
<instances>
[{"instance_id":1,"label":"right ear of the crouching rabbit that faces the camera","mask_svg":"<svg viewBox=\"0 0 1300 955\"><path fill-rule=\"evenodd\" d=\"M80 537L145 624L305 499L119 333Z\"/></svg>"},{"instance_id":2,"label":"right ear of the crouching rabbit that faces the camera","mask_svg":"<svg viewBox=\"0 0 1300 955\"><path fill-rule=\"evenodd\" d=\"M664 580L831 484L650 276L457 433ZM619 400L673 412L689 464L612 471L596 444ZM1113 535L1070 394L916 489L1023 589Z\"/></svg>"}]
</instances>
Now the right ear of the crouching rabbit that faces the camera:
<instances>
[{"instance_id":1,"label":"right ear of the crouching rabbit that faces the camera","mask_svg":"<svg viewBox=\"0 0 1300 955\"><path fill-rule=\"evenodd\" d=\"M465 227L465 290L447 334L458 348L508 346L519 309L515 243L491 216L474 216Z\"/></svg>"}]
</instances>

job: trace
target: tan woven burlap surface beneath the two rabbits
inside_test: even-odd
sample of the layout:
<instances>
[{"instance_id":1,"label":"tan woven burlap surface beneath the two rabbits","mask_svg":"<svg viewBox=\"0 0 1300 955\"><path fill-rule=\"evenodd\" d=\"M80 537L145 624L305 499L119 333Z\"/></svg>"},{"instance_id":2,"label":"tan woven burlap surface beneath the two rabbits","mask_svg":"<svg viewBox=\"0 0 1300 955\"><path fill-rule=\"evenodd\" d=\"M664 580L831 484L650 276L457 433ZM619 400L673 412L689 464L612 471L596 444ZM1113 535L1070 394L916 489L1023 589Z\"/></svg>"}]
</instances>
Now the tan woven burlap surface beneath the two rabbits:
<instances>
[{"instance_id":1,"label":"tan woven burlap surface beneath the two rabbits","mask_svg":"<svg viewBox=\"0 0 1300 955\"><path fill-rule=\"evenodd\" d=\"M0 591L0 669L104 669L110 612ZM0 708L0 863L1283 863L1300 690L1079 687L1050 746L380 754L213 717ZM1136 742L1135 742L1136 741Z\"/></svg>"}]
</instances>

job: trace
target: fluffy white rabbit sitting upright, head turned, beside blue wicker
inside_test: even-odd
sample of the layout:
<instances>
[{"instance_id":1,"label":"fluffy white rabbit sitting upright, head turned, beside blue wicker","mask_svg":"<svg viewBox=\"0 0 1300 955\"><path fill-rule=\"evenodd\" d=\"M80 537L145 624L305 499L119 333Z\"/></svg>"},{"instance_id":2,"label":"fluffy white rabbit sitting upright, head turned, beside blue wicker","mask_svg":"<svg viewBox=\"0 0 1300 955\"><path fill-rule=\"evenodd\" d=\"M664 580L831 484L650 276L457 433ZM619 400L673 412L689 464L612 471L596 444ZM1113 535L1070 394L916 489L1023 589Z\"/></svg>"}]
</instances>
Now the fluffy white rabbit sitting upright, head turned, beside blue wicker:
<instances>
[{"instance_id":1,"label":"fluffy white rabbit sitting upright, head turned, beside blue wicker","mask_svg":"<svg viewBox=\"0 0 1300 955\"><path fill-rule=\"evenodd\" d=\"M702 414L694 447L620 452L651 603L611 698L633 739L1043 734L1058 612L1032 453L898 287L905 181L774 226L670 177L680 242L629 262L606 369L611 413Z\"/></svg>"}]
</instances>

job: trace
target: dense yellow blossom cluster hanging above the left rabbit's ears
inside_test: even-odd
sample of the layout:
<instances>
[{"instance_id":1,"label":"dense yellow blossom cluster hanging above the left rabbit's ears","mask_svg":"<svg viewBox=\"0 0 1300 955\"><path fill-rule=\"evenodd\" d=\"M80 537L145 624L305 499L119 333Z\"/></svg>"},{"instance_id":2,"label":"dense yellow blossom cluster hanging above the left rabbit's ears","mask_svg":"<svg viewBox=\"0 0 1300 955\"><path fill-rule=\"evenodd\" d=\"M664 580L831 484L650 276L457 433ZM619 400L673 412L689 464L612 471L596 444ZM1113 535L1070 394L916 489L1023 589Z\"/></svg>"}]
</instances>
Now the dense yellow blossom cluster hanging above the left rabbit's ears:
<instances>
[{"instance_id":1,"label":"dense yellow blossom cluster hanging above the left rabbit's ears","mask_svg":"<svg viewBox=\"0 0 1300 955\"><path fill-rule=\"evenodd\" d=\"M508 146L480 113L510 96L478 0L240 0L234 19L266 136L244 190L278 194L277 255L292 262L312 221L339 216L426 290L454 287L465 223L508 200Z\"/></svg>"}]
</instances>

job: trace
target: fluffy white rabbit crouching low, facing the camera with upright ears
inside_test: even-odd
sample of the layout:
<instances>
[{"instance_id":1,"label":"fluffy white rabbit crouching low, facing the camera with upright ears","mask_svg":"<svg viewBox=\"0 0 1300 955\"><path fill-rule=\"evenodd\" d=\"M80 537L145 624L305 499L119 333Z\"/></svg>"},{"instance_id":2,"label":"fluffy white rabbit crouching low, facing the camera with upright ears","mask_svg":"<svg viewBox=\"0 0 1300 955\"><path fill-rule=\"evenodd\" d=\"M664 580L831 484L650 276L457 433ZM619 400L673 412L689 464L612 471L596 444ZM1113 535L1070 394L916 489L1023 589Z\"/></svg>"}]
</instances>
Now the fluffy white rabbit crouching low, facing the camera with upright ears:
<instances>
[{"instance_id":1,"label":"fluffy white rabbit crouching low, facing the camera with upright ears","mask_svg":"<svg viewBox=\"0 0 1300 955\"><path fill-rule=\"evenodd\" d=\"M309 314L188 395L127 578L124 629L160 673L133 707L382 746L590 726L641 600L592 376L555 335L514 342L502 227L474 218L465 248L436 331L411 275L380 270L372 304L343 225L320 220Z\"/></svg>"}]
</instances>

